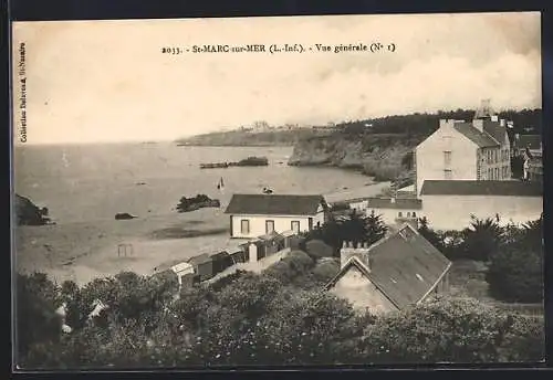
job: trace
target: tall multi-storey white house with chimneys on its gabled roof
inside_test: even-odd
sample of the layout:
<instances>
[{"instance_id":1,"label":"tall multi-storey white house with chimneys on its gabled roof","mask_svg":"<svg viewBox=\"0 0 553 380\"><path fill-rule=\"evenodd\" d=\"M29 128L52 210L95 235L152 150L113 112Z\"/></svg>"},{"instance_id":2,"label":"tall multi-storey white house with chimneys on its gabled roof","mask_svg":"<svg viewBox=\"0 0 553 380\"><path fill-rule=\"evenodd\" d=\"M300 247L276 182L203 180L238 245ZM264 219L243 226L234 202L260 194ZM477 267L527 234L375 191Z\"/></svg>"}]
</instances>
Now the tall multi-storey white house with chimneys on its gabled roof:
<instances>
[{"instance_id":1,"label":"tall multi-storey white house with chimneys on its gabled roof","mask_svg":"<svg viewBox=\"0 0 553 380\"><path fill-rule=\"evenodd\" d=\"M441 119L415 150L416 194L425 180L507 180L511 150L507 122L482 116L471 123Z\"/></svg>"}]
</instances>

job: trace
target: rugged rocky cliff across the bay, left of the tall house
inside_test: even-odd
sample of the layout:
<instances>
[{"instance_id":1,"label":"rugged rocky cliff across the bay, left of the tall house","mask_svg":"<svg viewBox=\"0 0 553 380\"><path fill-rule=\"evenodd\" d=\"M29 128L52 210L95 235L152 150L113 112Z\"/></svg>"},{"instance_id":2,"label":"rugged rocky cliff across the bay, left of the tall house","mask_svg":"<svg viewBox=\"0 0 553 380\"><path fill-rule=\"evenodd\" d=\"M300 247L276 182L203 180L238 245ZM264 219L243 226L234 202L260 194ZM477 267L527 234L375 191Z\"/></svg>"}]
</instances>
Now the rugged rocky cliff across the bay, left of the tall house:
<instances>
[{"instance_id":1,"label":"rugged rocky cliff across the bay, left of the tall house","mask_svg":"<svg viewBox=\"0 0 553 380\"><path fill-rule=\"evenodd\" d=\"M312 137L294 146L289 165L358 169L377 181L399 180L407 183L413 170L413 149L426 136L407 134L335 133Z\"/></svg>"}]
</instances>

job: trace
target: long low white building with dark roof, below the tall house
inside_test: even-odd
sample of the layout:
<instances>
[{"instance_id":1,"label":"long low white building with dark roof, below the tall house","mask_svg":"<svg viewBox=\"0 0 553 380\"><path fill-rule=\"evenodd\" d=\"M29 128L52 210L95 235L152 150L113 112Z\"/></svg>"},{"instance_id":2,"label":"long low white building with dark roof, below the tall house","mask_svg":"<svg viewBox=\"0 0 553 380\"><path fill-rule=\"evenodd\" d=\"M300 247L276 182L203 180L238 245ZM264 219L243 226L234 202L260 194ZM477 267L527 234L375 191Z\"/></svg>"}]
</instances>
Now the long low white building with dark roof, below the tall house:
<instances>
[{"instance_id":1,"label":"long low white building with dark roof, below the tall house","mask_svg":"<svg viewBox=\"0 0 553 380\"><path fill-rule=\"evenodd\" d=\"M542 194L541 183L523 181L427 180L420 190L422 215L436 230L465 229L471 215L499 217L500 224L536 220Z\"/></svg>"}]
</instances>

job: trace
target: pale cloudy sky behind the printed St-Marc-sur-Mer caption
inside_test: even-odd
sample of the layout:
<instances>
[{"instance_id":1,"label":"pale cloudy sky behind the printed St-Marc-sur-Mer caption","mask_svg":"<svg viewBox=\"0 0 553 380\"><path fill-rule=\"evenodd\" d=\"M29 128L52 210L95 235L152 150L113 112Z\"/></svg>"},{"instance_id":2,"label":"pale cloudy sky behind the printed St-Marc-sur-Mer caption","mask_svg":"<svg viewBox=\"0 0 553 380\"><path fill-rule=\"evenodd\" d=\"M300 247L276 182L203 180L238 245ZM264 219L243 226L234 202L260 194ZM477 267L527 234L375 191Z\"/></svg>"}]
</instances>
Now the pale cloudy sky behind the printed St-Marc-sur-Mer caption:
<instances>
[{"instance_id":1,"label":"pale cloudy sky behind the printed St-Marc-sur-Mer caption","mask_svg":"<svg viewBox=\"0 0 553 380\"><path fill-rule=\"evenodd\" d=\"M326 124L415 112L541 107L540 13L49 21L25 44L25 144L173 140L265 120ZM316 52L315 44L395 44ZM161 54L192 44L294 44L281 54ZM13 71L19 144L19 74Z\"/></svg>"}]
</instances>

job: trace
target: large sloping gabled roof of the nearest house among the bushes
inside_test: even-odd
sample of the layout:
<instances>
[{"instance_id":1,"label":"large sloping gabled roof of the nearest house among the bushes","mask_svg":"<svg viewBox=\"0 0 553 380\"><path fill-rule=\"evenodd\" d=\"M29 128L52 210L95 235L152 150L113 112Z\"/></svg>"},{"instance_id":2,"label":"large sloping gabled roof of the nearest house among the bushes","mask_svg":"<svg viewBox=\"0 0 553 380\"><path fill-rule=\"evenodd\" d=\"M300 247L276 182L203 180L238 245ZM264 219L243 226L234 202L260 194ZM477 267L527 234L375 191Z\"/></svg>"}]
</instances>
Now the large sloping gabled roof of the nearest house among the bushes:
<instances>
[{"instance_id":1,"label":"large sloping gabled roof of the nearest house among the bushes","mask_svg":"<svg viewBox=\"0 0 553 380\"><path fill-rule=\"evenodd\" d=\"M394 305L403 308L425 299L451 266L451 262L409 224L373 244L368 257L369 268L351 257L325 288L334 286L356 266Z\"/></svg>"}]
</instances>

